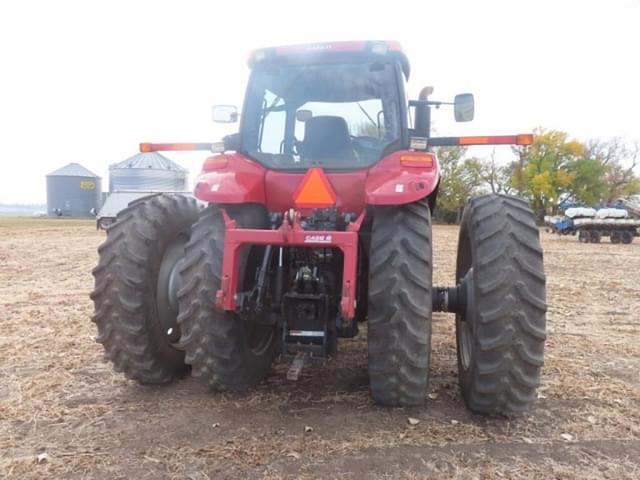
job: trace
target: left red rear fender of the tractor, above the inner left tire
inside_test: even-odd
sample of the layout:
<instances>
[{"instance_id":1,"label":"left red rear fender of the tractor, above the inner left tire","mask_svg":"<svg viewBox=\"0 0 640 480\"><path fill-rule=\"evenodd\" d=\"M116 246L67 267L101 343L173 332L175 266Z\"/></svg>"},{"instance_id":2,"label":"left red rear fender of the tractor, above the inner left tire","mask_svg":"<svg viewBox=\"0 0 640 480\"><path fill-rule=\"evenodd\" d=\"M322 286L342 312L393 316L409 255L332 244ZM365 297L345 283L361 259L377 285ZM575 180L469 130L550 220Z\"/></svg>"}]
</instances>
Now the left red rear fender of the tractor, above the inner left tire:
<instances>
[{"instance_id":1,"label":"left red rear fender of the tractor, above the inner left tire","mask_svg":"<svg viewBox=\"0 0 640 480\"><path fill-rule=\"evenodd\" d=\"M266 204L267 170L238 153L207 158L196 179L194 196L208 203Z\"/></svg>"}]
</instances>

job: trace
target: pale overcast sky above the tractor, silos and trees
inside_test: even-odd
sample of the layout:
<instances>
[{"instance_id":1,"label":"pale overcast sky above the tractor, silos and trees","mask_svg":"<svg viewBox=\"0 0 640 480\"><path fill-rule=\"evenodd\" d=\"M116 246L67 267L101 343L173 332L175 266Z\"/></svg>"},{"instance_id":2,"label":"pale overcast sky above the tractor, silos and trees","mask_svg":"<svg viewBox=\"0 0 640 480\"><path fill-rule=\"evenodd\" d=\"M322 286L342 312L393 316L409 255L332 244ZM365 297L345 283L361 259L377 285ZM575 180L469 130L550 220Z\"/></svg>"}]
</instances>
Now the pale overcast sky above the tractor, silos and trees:
<instances>
[{"instance_id":1,"label":"pale overcast sky above the tractor, silos and trees","mask_svg":"<svg viewBox=\"0 0 640 480\"><path fill-rule=\"evenodd\" d=\"M441 135L640 140L639 25L640 0L3 1L0 202L44 203L70 162L106 190L140 142L219 140L211 106L241 106L248 52L293 43L400 41L411 98L475 95L473 122L434 114ZM205 157L168 156L192 179Z\"/></svg>"}]
</instances>

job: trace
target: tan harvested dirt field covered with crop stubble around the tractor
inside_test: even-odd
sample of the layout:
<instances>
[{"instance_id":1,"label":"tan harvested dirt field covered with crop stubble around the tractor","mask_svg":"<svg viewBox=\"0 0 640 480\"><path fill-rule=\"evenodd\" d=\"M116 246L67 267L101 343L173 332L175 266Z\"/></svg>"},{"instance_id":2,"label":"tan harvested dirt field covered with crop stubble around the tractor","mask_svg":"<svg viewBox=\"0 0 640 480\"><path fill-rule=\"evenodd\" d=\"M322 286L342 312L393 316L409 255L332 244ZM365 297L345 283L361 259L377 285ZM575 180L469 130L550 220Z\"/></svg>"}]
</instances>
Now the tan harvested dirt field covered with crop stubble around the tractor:
<instances>
[{"instance_id":1,"label":"tan harvested dirt field covered with crop stubble around the tractor","mask_svg":"<svg viewBox=\"0 0 640 480\"><path fill-rule=\"evenodd\" d=\"M453 278L456 234L435 228L436 283ZM246 395L129 382L93 341L103 237L90 222L0 219L2 478L640 478L637 240L543 234L542 387L509 421L464 408L444 314L421 408L371 403L365 335L298 383L278 366Z\"/></svg>"}]
</instances>

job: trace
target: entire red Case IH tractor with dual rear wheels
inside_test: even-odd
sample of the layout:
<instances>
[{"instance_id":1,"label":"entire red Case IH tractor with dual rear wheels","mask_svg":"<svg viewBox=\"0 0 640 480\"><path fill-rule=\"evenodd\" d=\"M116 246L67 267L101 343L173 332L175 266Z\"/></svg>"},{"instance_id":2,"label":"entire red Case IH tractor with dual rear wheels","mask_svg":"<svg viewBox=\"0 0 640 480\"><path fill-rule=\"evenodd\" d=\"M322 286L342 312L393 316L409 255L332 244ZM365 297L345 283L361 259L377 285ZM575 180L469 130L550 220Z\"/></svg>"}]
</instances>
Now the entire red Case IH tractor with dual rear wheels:
<instances>
[{"instance_id":1,"label":"entire red Case IH tractor with dual rear wheels","mask_svg":"<svg viewBox=\"0 0 640 480\"><path fill-rule=\"evenodd\" d=\"M432 285L433 147L521 144L531 135L431 137L432 107L407 101L396 42L254 51L242 115L204 150L194 195L138 200L108 228L94 269L93 320L106 357L141 383L189 371L215 390L260 382L276 357L335 355L367 322L371 394L424 402L433 311L455 313L462 395L474 412L513 415L536 398L545 276L527 203L473 198L462 217L454 287ZM457 95L455 118L473 118ZM414 113L410 115L410 109ZM201 205L206 204L206 207Z\"/></svg>"}]
</instances>

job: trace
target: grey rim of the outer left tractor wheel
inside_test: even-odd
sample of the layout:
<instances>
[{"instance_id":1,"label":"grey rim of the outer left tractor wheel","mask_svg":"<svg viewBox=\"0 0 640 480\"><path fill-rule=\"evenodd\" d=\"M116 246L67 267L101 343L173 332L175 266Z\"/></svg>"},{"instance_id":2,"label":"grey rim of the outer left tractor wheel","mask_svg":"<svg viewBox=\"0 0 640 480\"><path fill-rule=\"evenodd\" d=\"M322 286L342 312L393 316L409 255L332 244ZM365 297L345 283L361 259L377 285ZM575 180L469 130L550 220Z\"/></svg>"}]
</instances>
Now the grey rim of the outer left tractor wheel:
<instances>
[{"instance_id":1,"label":"grey rim of the outer left tractor wheel","mask_svg":"<svg viewBox=\"0 0 640 480\"><path fill-rule=\"evenodd\" d=\"M184 256L186 243L186 236L178 235L169 244L162 257L158 272L156 307L160 327L169 344L180 340L180 327L177 322L178 290L181 287L179 267Z\"/></svg>"}]
</instances>

